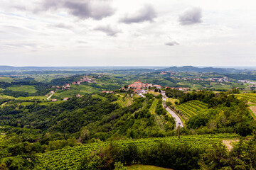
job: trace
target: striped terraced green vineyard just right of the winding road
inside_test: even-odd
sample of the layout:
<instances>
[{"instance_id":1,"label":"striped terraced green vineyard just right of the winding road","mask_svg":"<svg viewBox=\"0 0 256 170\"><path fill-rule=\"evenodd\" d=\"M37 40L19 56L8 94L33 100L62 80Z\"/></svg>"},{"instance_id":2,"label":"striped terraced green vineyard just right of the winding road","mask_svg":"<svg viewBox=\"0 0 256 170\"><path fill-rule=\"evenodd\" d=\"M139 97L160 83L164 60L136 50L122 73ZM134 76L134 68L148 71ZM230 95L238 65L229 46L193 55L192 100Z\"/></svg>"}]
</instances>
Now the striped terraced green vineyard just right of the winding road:
<instances>
[{"instance_id":1,"label":"striped terraced green vineyard just right of the winding road","mask_svg":"<svg viewBox=\"0 0 256 170\"><path fill-rule=\"evenodd\" d=\"M186 115L187 118L191 118L203 109L207 109L207 104L201 101L188 101L186 103L176 105L175 107Z\"/></svg>"}]
</instances>

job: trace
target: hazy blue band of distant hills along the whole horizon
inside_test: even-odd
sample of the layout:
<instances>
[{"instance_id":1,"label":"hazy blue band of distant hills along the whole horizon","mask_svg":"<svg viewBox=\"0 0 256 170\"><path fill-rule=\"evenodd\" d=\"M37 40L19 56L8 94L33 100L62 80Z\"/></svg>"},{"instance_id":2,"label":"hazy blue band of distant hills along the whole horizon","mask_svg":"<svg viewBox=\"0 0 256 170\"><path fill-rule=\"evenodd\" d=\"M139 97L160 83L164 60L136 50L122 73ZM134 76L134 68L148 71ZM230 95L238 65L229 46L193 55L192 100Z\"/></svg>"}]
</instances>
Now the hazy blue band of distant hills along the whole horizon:
<instances>
[{"instance_id":1,"label":"hazy blue band of distant hills along the whole horizon","mask_svg":"<svg viewBox=\"0 0 256 170\"><path fill-rule=\"evenodd\" d=\"M193 67L193 66L183 66L183 67L169 67L161 68L159 67L13 67L13 66L0 66L0 71L46 71L46 70L90 70L90 71L99 71L99 70L133 70L136 72L155 72L155 71L169 71L169 72L215 72L220 74L234 74L242 72L252 72L252 69L233 69L233 68L213 68L213 67Z\"/></svg>"}]
</instances>

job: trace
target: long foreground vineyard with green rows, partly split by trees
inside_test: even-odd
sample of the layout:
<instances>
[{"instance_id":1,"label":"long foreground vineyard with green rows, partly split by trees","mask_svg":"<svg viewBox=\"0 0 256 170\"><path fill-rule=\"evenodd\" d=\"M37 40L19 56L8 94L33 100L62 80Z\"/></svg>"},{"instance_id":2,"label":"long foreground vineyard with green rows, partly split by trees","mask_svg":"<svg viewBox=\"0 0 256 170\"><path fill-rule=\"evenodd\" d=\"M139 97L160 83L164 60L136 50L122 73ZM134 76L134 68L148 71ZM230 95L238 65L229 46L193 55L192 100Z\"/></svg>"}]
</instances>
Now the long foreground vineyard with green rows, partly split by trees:
<instances>
[{"instance_id":1,"label":"long foreground vineyard with green rows, partly split by trees","mask_svg":"<svg viewBox=\"0 0 256 170\"><path fill-rule=\"evenodd\" d=\"M137 146L140 150L153 147L159 142L167 142L173 145L189 145L195 148L211 147L213 143L218 143L223 139L237 138L236 134L218 134L218 135L191 135L178 137L159 137L146 138L138 140L122 140L118 142L120 147L127 147L127 145ZM90 143L80 145L79 147L69 147L66 149L59 149L52 152L42 154L39 158L41 164L38 169L77 169L81 157L85 154L90 154L96 149L107 146L108 142Z\"/></svg>"}]
</instances>

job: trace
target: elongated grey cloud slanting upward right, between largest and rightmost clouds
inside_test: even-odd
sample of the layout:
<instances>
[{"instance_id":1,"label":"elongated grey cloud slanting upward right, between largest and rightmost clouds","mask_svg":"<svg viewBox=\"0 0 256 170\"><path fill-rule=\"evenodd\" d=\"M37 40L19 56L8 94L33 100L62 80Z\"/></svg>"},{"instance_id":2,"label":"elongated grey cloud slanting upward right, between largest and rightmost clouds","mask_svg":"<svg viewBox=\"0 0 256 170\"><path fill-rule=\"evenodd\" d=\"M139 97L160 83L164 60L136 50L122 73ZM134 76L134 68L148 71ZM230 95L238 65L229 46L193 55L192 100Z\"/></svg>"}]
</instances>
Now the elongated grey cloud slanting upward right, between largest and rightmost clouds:
<instances>
[{"instance_id":1,"label":"elongated grey cloud slanting upward right, between largest and rightmost clouds","mask_svg":"<svg viewBox=\"0 0 256 170\"><path fill-rule=\"evenodd\" d=\"M142 23L144 21L153 21L156 18L156 11L153 6L145 5L136 13L132 15L126 15L123 18L120 18L120 22L122 23Z\"/></svg>"}]
</instances>

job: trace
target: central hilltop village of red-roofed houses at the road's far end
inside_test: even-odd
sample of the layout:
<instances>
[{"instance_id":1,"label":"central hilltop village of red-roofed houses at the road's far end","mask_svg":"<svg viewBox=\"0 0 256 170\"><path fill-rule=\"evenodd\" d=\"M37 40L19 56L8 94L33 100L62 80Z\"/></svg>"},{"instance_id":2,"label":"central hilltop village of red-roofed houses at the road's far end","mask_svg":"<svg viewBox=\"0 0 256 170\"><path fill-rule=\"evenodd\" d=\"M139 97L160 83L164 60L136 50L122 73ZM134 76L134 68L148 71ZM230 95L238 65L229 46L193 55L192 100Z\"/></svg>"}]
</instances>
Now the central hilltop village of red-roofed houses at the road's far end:
<instances>
[{"instance_id":1,"label":"central hilltop village of red-roofed houses at the road's far end","mask_svg":"<svg viewBox=\"0 0 256 170\"><path fill-rule=\"evenodd\" d=\"M142 81L136 81L133 84L129 84L128 85L128 89L133 89L134 93L136 92L137 94L146 94L147 89L149 89L149 87L156 87L156 89L161 89L160 85L152 85L152 84L144 84L142 83ZM124 90L125 88L122 87L122 90Z\"/></svg>"}]
</instances>

